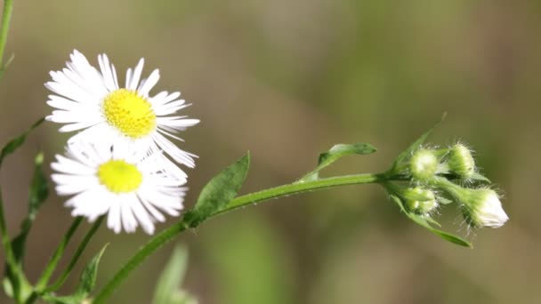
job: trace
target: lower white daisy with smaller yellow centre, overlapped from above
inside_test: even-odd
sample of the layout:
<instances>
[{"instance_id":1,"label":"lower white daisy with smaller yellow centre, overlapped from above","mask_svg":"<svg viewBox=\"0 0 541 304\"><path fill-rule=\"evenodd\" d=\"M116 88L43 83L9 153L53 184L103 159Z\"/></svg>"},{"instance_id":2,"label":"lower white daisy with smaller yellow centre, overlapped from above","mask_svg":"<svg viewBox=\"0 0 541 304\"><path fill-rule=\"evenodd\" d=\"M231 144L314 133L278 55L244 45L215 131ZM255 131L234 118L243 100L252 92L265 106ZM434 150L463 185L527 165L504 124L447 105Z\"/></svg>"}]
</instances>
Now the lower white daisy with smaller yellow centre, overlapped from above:
<instances>
[{"instance_id":1,"label":"lower white daisy with smaller yellow centre, overlapped from above","mask_svg":"<svg viewBox=\"0 0 541 304\"><path fill-rule=\"evenodd\" d=\"M72 143L66 156L57 155L51 167L56 192L72 196L66 206L73 216L94 221L108 213L107 226L119 233L135 231L138 225L154 233L154 222L166 220L162 212L178 216L182 210L186 180L161 171L159 153L141 155L141 151L116 145Z\"/></svg>"}]
</instances>

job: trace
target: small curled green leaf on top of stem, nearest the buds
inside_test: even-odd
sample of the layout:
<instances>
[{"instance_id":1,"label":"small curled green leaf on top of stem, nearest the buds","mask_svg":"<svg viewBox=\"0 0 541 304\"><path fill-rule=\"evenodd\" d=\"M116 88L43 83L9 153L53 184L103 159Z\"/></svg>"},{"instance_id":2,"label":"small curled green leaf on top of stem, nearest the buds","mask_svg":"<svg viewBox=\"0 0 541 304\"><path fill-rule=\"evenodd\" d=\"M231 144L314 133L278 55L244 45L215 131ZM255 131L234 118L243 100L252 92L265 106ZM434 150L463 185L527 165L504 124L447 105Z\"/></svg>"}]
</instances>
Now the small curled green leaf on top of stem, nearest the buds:
<instances>
[{"instance_id":1,"label":"small curled green leaf on top of stem, nearest the buds","mask_svg":"<svg viewBox=\"0 0 541 304\"><path fill-rule=\"evenodd\" d=\"M296 182L305 182L319 179L319 171L329 164L335 163L339 158L343 156L350 156L353 154L367 155L376 151L374 146L366 142L359 142L354 144L337 144L330 148L327 152L319 154L318 166L316 169L306 174L300 180Z\"/></svg>"}]
</instances>

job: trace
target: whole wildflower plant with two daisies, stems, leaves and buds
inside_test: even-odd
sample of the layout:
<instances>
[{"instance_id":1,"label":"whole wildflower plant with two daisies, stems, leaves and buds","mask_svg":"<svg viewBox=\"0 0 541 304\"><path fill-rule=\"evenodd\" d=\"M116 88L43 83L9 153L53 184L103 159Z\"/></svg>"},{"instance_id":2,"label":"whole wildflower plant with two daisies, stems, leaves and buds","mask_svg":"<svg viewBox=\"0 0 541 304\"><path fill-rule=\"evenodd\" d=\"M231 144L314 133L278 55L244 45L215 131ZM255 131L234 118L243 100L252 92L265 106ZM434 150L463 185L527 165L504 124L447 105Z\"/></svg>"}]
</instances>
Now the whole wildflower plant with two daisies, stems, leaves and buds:
<instances>
[{"instance_id":1,"label":"whole wildflower plant with two daisies, stems, leaves and buds","mask_svg":"<svg viewBox=\"0 0 541 304\"><path fill-rule=\"evenodd\" d=\"M12 0L6 0L0 31L0 64L3 63L11 13ZM1 67L0 71L4 73L7 64ZM106 55L98 57L98 67L93 67L82 53L74 51L67 68L52 72L52 81L45 84L53 92L47 101L55 108L52 114L39 119L1 151L0 167L4 158L20 148L28 133L45 119L63 124L61 132L76 132L66 143L65 153L56 155L51 164L55 190L60 196L67 196L65 205L70 208L74 220L36 283L28 280L22 264L28 231L49 194L49 179L43 172L43 153L39 152L35 159L27 217L22 221L19 234L14 237L6 229L0 192L0 234L5 253L2 286L16 303L34 303L37 300L62 304L103 303L134 268L183 231L197 228L215 215L239 207L324 188L380 185L408 219L444 240L465 247L472 244L461 236L440 229L436 219L440 205L456 204L456 210L463 214L464 221L472 228L498 228L508 220L497 192L478 172L469 148L464 144L449 148L430 148L425 144L433 128L400 153L384 172L322 177L321 172L327 166L344 156L370 155L376 151L374 146L364 142L338 144L321 153L315 168L298 180L238 196L250 166L250 155L246 153L214 176L202 188L197 202L184 212L183 197L188 176L180 165L194 167L196 156L178 148L170 139L180 140L178 132L198 124L198 120L178 115L187 106L184 100L179 99L180 93L150 94L159 74L154 70L148 78L141 80L143 60L135 68L127 70L124 87L119 86L116 68ZM154 235L155 222L166 221L164 214L179 219ZM72 253L68 266L51 283L71 237L84 219L93 225ZM141 227L151 235L149 241L125 261L101 290L95 291L98 266L107 247L105 244L87 262L77 288L67 295L59 294L57 291L68 280L104 220L107 220L107 227L116 233L133 232ZM185 251L176 249L158 280L155 303L197 303L188 292L177 289L185 263Z\"/></svg>"}]
</instances>

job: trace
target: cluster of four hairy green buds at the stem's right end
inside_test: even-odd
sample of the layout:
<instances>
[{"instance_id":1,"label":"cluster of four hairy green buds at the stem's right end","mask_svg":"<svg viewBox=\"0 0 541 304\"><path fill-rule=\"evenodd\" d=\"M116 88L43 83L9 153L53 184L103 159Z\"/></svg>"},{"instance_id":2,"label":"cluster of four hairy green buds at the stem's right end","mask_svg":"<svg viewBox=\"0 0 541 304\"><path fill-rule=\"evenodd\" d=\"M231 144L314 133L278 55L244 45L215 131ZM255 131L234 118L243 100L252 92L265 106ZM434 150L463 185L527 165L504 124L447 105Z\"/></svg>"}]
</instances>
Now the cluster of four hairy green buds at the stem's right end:
<instances>
[{"instance_id":1,"label":"cluster of four hairy green buds at the stem's right end","mask_svg":"<svg viewBox=\"0 0 541 304\"><path fill-rule=\"evenodd\" d=\"M408 212L430 217L446 194L460 204L464 220L472 227L498 228L509 220L497 192L490 188L463 188L452 180L473 180L476 174L472 151L457 143L451 148L417 148L409 158L406 171L412 188L392 188Z\"/></svg>"}]
</instances>

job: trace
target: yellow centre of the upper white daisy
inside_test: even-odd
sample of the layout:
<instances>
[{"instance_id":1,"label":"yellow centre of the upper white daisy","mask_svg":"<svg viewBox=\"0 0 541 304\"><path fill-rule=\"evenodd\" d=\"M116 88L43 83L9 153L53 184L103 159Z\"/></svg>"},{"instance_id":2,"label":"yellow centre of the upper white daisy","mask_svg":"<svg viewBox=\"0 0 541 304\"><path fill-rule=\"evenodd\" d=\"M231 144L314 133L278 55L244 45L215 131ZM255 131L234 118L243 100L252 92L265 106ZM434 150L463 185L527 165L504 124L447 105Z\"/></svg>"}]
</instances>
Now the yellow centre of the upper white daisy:
<instances>
[{"instance_id":1,"label":"yellow centre of the upper white daisy","mask_svg":"<svg viewBox=\"0 0 541 304\"><path fill-rule=\"evenodd\" d=\"M107 122L133 139L148 135L156 127L156 114L148 100L137 92L119 89L103 100Z\"/></svg>"}]
</instances>

